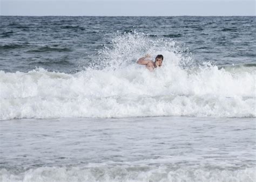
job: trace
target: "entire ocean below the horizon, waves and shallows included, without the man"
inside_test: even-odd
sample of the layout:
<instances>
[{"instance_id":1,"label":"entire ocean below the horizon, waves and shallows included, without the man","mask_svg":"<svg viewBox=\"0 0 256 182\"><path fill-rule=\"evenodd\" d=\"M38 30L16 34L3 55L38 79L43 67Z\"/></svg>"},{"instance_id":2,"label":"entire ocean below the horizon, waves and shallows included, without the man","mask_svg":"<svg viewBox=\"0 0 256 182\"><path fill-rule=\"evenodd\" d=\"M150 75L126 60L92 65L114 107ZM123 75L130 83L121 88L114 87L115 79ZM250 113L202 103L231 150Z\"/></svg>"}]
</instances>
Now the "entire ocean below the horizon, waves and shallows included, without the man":
<instances>
[{"instance_id":1,"label":"entire ocean below the horizon, waves and shallows included, without the man","mask_svg":"<svg viewBox=\"0 0 256 182\"><path fill-rule=\"evenodd\" d=\"M0 181L256 181L255 16L0 22Z\"/></svg>"}]
</instances>

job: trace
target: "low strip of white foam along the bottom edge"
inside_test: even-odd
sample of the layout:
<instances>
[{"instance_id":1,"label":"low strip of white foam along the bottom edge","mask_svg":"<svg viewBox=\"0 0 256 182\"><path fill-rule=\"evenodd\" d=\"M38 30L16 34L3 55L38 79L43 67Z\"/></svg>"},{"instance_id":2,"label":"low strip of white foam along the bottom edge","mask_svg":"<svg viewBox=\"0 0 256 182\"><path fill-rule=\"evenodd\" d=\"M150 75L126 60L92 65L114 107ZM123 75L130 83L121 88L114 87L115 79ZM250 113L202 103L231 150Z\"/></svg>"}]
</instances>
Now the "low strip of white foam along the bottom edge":
<instances>
[{"instance_id":1,"label":"low strip of white foam along the bottom edge","mask_svg":"<svg viewBox=\"0 0 256 182\"><path fill-rule=\"evenodd\" d=\"M200 169L166 166L39 167L25 172L0 170L1 181L255 181L255 169Z\"/></svg>"}]
</instances>

